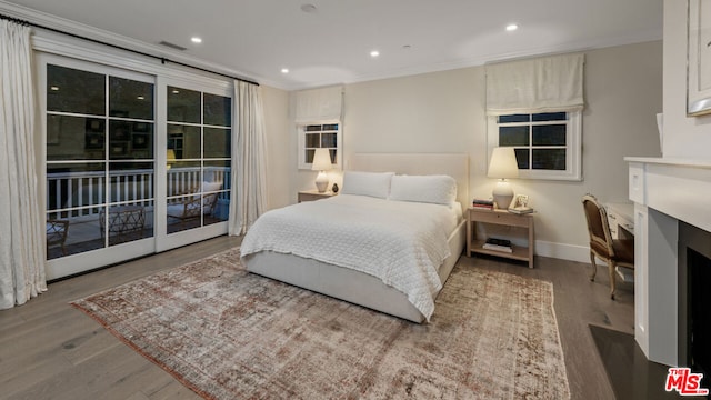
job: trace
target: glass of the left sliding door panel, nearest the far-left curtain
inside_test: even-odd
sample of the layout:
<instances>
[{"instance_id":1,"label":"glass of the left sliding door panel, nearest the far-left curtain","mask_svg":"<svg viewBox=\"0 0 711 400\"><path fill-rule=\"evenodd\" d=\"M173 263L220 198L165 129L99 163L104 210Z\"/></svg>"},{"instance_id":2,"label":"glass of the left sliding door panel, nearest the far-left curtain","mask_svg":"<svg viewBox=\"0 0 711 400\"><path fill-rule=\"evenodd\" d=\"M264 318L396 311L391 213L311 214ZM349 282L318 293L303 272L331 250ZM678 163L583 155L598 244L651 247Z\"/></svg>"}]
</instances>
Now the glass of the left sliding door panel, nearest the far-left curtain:
<instances>
[{"instance_id":1,"label":"glass of the left sliding door panel, nearest the far-left curtain","mask_svg":"<svg viewBox=\"0 0 711 400\"><path fill-rule=\"evenodd\" d=\"M153 237L154 84L113 72L46 66L48 260Z\"/></svg>"}]
</instances>

